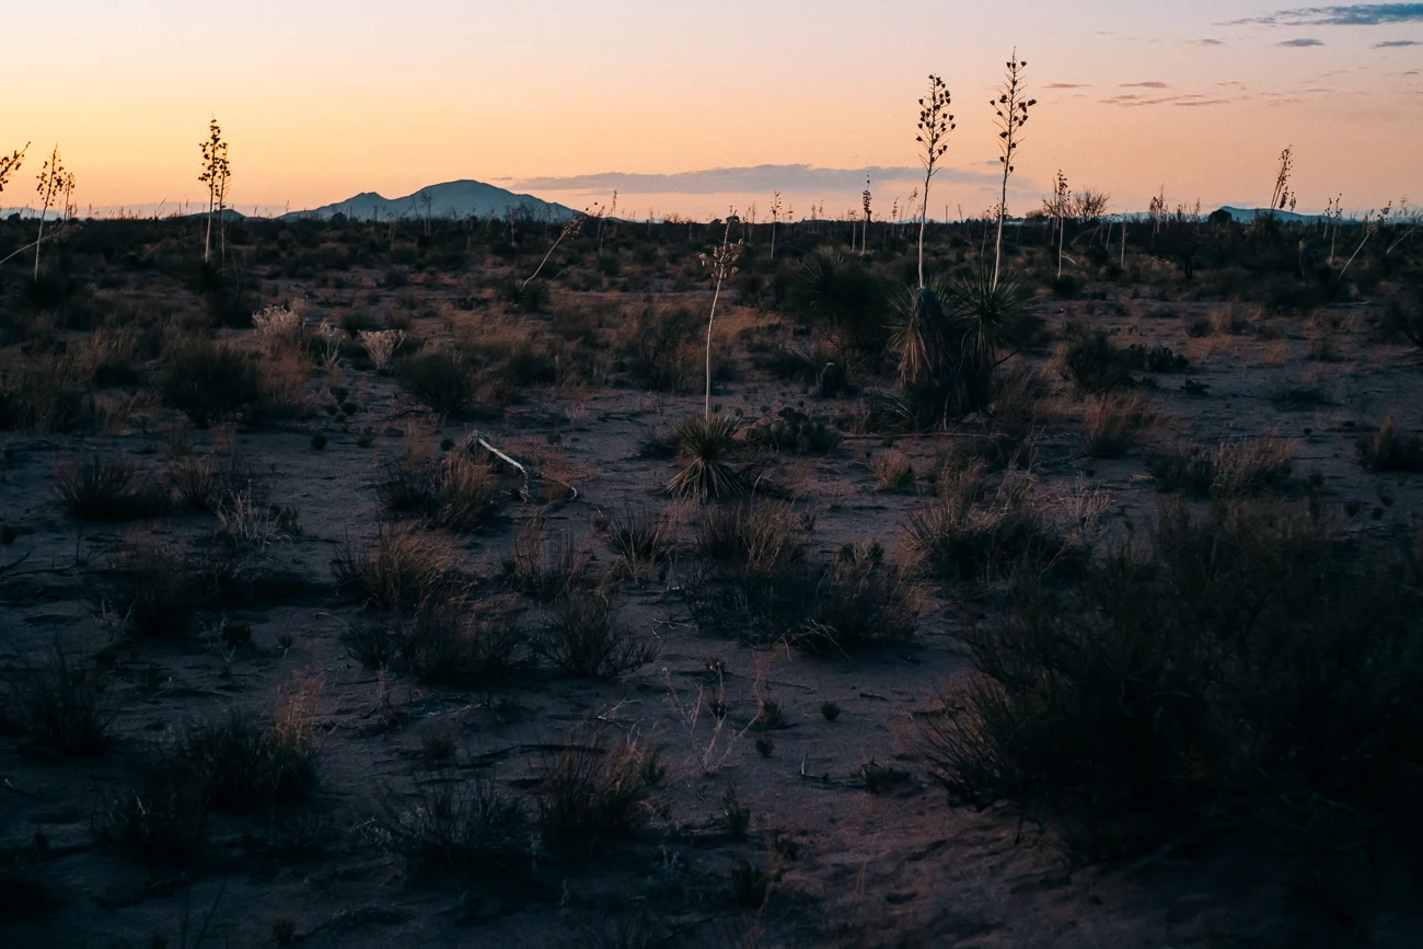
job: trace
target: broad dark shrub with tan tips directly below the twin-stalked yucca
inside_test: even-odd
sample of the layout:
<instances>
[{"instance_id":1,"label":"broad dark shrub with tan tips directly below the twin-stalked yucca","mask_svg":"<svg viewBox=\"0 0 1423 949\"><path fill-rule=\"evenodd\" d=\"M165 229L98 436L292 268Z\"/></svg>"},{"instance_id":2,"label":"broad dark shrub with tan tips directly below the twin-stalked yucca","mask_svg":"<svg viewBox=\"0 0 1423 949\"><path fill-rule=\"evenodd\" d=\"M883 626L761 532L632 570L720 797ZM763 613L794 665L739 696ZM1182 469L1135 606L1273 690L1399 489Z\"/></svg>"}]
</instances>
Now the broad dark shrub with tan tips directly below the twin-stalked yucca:
<instances>
[{"instance_id":1,"label":"broad dark shrub with tan tips directly below the twin-stalked yucca","mask_svg":"<svg viewBox=\"0 0 1423 949\"><path fill-rule=\"evenodd\" d=\"M966 497L956 492L911 515L905 544L924 575L992 585L1074 572L1084 561L1080 536L1057 522L1026 477L1006 477L982 501Z\"/></svg>"}]
</instances>

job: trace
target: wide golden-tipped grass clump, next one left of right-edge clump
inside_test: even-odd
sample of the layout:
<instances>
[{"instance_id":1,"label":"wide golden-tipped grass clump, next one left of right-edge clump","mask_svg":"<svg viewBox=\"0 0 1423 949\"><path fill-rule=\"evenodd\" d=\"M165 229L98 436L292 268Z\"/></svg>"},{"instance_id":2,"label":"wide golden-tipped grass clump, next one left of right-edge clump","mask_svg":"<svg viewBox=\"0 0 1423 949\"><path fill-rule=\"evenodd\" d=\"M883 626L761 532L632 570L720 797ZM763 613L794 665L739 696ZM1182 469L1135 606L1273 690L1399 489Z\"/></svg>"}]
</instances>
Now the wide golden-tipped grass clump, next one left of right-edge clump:
<instances>
[{"instance_id":1,"label":"wide golden-tipped grass clump, next one left of right-edge clump","mask_svg":"<svg viewBox=\"0 0 1423 949\"><path fill-rule=\"evenodd\" d=\"M1148 451L1146 465L1161 491L1242 498L1286 488L1294 457L1294 442L1278 435L1222 441L1214 450L1183 440Z\"/></svg>"}]
</instances>

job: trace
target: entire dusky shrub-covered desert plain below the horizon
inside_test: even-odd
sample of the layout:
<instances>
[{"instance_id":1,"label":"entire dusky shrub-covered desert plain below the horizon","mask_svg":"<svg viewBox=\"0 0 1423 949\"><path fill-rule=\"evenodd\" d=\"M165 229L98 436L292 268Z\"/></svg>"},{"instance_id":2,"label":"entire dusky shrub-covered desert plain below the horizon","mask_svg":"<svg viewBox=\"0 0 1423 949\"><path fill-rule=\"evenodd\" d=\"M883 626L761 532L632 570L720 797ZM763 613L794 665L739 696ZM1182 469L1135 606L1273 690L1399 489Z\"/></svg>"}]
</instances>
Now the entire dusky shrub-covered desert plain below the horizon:
<instances>
[{"instance_id":1,"label":"entire dusky shrub-covered desert plain below the horizon","mask_svg":"<svg viewBox=\"0 0 1423 949\"><path fill-rule=\"evenodd\" d=\"M0 943L1423 942L1406 225L203 225L0 267Z\"/></svg>"}]
</instances>

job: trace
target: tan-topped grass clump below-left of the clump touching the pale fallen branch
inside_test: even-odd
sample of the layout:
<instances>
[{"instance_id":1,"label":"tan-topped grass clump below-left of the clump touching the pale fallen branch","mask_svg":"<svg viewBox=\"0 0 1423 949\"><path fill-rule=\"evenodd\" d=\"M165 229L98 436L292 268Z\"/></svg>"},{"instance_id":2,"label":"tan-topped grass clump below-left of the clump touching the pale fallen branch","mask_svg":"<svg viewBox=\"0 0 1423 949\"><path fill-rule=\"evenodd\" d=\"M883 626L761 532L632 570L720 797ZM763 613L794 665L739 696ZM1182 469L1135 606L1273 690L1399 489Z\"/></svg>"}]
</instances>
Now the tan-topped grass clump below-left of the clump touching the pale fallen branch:
<instances>
[{"instance_id":1,"label":"tan-topped grass clump below-left of the clump touching the pale fallen branch","mask_svg":"<svg viewBox=\"0 0 1423 949\"><path fill-rule=\"evenodd\" d=\"M340 592L376 609L414 606L435 590L460 582L454 548L411 525L380 525L364 551L347 542L332 561Z\"/></svg>"}]
</instances>

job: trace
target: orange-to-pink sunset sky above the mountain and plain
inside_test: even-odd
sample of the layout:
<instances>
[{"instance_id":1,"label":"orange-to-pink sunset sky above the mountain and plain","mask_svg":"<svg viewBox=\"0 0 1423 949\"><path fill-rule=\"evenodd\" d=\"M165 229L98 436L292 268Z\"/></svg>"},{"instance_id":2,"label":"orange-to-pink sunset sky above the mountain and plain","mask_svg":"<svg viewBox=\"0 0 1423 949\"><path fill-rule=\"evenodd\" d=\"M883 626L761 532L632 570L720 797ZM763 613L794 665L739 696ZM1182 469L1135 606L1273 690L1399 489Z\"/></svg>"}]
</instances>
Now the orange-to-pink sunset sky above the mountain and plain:
<instances>
[{"instance_id":1,"label":"orange-to-pink sunset sky above the mountain and plain","mask_svg":"<svg viewBox=\"0 0 1423 949\"><path fill-rule=\"evenodd\" d=\"M996 203L990 100L1016 48L1037 98L1009 211L1062 169L1114 211L1423 202L1423 3L1288 0L48 0L6 4L0 205L58 142L81 209L196 206L216 117L232 203L299 211L460 178L643 218L904 205L918 98L958 128L929 216ZM922 188L922 184L919 185ZM962 211L961 211L962 209Z\"/></svg>"}]
</instances>

